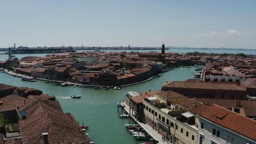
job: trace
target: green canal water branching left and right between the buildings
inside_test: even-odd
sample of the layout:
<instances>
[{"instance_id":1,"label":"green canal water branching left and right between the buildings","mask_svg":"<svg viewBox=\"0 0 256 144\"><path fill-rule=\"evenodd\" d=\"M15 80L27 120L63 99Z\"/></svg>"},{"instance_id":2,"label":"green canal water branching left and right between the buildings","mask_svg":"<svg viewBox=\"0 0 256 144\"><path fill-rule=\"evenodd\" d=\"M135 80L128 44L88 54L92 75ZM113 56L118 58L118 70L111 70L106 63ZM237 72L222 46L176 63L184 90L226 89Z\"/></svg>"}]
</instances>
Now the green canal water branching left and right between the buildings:
<instances>
[{"instance_id":1,"label":"green canal water branching left and right between the buildings","mask_svg":"<svg viewBox=\"0 0 256 144\"><path fill-rule=\"evenodd\" d=\"M183 81L193 78L195 69L201 66L182 68L178 67L163 73L158 79L124 87L120 90L94 88L61 87L54 83L44 81L26 82L18 77L0 73L0 83L17 87L32 87L49 95L55 95L60 101L64 112L70 112L77 121L84 122L90 128L86 133L96 143L137 143L132 135L126 131L124 124L131 123L130 118L119 118L117 113L117 102L125 100L126 92L136 91L138 93L151 89L159 90L165 81ZM72 95L82 95L81 99L71 99ZM142 143L139 141L138 143Z\"/></svg>"}]
</instances>

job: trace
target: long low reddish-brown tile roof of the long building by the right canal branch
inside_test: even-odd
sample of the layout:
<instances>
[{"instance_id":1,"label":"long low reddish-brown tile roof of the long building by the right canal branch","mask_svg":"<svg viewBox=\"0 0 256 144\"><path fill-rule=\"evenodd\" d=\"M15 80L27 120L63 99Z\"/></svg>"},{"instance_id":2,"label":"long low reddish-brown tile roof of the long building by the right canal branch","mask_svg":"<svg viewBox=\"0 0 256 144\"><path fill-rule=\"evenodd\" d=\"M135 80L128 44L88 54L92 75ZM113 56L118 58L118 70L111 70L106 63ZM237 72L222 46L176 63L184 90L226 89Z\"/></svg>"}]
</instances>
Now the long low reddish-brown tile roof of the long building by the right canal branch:
<instances>
[{"instance_id":1,"label":"long low reddish-brown tile roof of the long building by the right canal branch","mask_svg":"<svg viewBox=\"0 0 256 144\"><path fill-rule=\"evenodd\" d=\"M164 87L170 88L191 88L191 89L222 89L233 91L246 91L245 88L238 86L234 83L211 83L211 82L185 82L185 81L172 81Z\"/></svg>"}]
</instances>

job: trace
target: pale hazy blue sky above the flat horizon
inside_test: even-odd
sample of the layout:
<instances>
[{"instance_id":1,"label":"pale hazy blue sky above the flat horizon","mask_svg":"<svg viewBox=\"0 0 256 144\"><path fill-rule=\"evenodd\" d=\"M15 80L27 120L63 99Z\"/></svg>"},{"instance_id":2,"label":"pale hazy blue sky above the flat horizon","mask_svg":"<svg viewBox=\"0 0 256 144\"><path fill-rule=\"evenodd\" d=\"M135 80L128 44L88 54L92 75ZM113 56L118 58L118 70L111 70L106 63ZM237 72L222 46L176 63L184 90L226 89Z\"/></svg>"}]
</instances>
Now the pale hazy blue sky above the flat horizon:
<instances>
[{"instance_id":1,"label":"pale hazy blue sky above the flat horizon","mask_svg":"<svg viewBox=\"0 0 256 144\"><path fill-rule=\"evenodd\" d=\"M0 47L256 49L256 1L0 1Z\"/></svg>"}]
</instances>

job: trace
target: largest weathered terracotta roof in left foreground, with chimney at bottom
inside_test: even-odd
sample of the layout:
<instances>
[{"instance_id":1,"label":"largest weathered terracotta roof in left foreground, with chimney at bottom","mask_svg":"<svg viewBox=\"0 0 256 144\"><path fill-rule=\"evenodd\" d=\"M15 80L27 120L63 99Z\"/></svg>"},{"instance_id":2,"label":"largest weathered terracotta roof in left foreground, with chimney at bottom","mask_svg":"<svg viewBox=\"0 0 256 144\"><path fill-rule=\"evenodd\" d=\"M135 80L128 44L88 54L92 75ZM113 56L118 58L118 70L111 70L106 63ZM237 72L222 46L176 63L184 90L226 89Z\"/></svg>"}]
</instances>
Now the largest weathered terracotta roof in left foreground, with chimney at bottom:
<instances>
[{"instance_id":1,"label":"largest weathered terracotta roof in left foreground, with chimney at bottom","mask_svg":"<svg viewBox=\"0 0 256 144\"><path fill-rule=\"evenodd\" d=\"M19 122L24 143L44 143L42 133L48 133L49 143L89 143L70 113L60 114L38 107L33 116Z\"/></svg>"}]
</instances>

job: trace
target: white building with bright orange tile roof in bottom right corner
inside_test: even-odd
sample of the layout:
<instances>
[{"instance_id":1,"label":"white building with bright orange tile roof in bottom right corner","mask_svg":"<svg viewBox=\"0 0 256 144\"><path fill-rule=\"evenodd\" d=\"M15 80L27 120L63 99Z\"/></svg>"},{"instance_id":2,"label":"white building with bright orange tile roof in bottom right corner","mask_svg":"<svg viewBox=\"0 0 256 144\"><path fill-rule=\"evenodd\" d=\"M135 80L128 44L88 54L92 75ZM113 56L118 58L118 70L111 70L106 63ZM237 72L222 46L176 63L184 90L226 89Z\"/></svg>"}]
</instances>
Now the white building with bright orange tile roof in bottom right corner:
<instances>
[{"instance_id":1,"label":"white building with bright orange tile roof in bottom right corner","mask_svg":"<svg viewBox=\"0 0 256 144\"><path fill-rule=\"evenodd\" d=\"M256 143L256 121L213 104L201 113L197 143Z\"/></svg>"}]
</instances>

